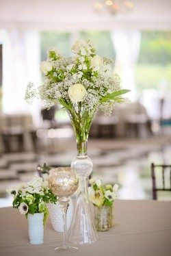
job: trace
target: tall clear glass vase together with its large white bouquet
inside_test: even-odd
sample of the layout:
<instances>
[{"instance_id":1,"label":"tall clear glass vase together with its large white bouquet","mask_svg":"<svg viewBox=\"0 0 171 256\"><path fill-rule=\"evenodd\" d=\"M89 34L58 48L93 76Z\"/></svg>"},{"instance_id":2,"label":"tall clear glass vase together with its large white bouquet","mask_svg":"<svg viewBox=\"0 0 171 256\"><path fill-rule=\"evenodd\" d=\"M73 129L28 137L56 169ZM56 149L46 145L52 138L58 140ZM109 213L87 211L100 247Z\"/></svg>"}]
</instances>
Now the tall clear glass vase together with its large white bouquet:
<instances>
[{"instance_id":1,"label":"tall clear glass vase together with its large white bouquet","mask_svg":"<svg viewBox=\"0 0 171 256\"><path fill-rule=\"evenodd\" d=\"M127 101L122 94L129 90L122 90L120 77L112 71L112 61L97 55L90 40L78 40L72 51L71 57L63 57L57 49L49 49L47 60L40 65L44 84L36 89L33 83L29 83L25 99L30 103L38 97L47 108L60 104L70 116L77 141L77 156L71 167L77 171L81 184L70 240L87 244L98 240L88 204L87 179L93 168L86 143L90 126L98 109L111 115L116 103ZM75 225L77 229L74 229Z\"/></svg>"}]
</instances>

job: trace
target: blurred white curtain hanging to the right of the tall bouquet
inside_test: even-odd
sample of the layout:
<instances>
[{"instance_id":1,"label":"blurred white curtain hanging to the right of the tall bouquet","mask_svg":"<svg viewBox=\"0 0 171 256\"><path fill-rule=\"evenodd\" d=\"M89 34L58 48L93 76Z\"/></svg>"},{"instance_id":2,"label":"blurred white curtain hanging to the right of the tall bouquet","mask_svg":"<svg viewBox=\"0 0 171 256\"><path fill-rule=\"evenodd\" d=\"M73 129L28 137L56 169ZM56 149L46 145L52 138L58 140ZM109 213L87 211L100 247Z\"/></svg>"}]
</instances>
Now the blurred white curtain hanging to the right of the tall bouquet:
<instances>
[{"instance_id":1,"label":"blurred white curtain hanging to the right of the tall bouquet","mask_svg":"<svg viewBox=\"0 0 171 256\"><path fill-rule=\"evenodd\" d=\"M112 31L111 39L116 50L115 71L120 73L122 88L131 90L129 99L137 100L135 64L140 52L140 31Z\"/></svg>"}]
</instances>

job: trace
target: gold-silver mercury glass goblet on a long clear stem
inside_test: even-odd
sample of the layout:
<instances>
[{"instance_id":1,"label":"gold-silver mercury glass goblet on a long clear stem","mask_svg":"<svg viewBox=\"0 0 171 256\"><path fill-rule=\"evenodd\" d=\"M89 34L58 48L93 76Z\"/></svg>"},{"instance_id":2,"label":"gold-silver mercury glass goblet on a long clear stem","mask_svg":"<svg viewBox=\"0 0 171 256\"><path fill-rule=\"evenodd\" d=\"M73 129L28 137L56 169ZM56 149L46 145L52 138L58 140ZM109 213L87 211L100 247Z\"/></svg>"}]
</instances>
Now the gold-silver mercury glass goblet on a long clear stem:
<instances>
[{"instance_id":1,"label":"gold-silver mercury glass goblet on a long clear stem","mask_svg":"<svg viewBox=\"0 0 171 256\"><path fill-rule=\"evenodd\" d=\"M54 249L57 253L74 253L77 247L69 246L66 230L66 213L68 209L69 196L71 196L78 188L79 178L75 169L70 167L52 168L49 172L49 187L59 197L59 206L62 209L64 220L64 241L62 246Z\"/></svg>"}]
</instances>

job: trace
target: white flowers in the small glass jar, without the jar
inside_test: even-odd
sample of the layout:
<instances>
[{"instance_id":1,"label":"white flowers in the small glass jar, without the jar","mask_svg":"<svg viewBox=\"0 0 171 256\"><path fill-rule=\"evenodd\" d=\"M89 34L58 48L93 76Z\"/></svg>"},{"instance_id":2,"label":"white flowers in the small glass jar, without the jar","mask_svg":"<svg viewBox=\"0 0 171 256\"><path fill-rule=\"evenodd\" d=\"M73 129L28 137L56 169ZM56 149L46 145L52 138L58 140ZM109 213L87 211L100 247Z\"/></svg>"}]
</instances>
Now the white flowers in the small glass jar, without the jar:
<instances>
[{"instance_id":1,"label":"white flowers in the small glass jar, without the jar","mask_svg":"<svg viewBox=\"0 0 171 256\"><path fill-rule=\"evenodd\" d=\"M90 179L90 187L88 187L89 200L97 207L109 205L112 207L117 199L118 184L113 187L111 184L103 185L101 179Z\"/></svg>"}]
</instances>

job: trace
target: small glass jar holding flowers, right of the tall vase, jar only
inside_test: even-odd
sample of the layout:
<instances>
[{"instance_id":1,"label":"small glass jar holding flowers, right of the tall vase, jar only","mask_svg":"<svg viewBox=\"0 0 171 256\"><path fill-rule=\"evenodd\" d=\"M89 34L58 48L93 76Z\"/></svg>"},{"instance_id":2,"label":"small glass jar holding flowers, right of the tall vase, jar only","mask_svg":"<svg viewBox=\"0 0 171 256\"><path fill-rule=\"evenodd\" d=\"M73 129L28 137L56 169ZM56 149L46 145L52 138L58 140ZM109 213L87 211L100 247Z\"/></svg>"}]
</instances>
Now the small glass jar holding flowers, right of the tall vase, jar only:
<instances>
[{"instance_id":1,"label":"small glass jar holding flowers, right of the tall vase, jar only","mask_svg":"<svg viewBox=\"0 0 171 256\"><path fill-rule=\"evenodd\" d=\"M94 206L94 218L97 231L107 231L113 227L113 206Z\"/></svg>"}]
</instances>

